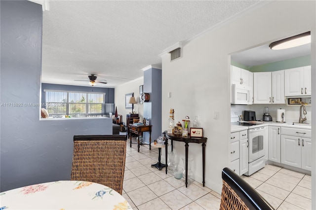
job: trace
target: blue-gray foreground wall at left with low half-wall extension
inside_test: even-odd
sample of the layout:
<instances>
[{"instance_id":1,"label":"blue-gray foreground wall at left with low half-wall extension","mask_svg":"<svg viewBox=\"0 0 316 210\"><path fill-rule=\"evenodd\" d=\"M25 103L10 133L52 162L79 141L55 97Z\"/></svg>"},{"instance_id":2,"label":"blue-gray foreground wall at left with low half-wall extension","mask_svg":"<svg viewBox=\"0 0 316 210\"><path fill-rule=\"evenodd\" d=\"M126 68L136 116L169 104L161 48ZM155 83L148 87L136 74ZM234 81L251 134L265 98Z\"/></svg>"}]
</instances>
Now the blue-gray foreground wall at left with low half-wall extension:
<instances>
[{"instance_id":1,"label":"blue-gray foreground wall at left with low half-wall extension","mask_svg":"<svg viewBox=\"0 0 316 210\"><path fill-rule=\"evenodd\" d=\"M69 180L73 136L112 134L112 119L40 120L41 5L1 0L0 21L0 191Z\"/></svg>"}]
</instances>

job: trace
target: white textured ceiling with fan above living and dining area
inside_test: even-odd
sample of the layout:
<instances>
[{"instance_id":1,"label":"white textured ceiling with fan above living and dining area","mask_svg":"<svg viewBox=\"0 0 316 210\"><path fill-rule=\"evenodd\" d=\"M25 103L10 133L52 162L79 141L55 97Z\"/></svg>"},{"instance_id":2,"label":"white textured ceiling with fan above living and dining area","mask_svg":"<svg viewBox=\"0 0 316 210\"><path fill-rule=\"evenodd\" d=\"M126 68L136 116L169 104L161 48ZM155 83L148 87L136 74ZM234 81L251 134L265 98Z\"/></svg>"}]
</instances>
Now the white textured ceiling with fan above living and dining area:
<instances>
[{"instance_id":1,"label":"white textured ceiling with fan above living and dining area","mask_svg":"<svg viewBox=\"0 0 316 210\"><path fill-rule=\"evenodd\" d=\"M74 80L94 73L108 82L98 87L115 87L161 67L166 48L258 2L51 0L43 12L42 82L88 86Z\"/></svg>"}]
</instances>

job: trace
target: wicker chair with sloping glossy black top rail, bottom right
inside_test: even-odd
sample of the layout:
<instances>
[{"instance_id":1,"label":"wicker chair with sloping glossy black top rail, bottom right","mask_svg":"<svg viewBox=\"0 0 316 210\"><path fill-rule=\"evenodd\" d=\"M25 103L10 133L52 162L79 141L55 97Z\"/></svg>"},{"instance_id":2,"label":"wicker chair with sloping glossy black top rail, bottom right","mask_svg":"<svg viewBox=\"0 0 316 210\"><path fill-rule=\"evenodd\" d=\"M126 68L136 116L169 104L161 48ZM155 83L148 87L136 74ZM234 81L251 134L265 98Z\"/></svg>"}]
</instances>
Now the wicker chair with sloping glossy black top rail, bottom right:
<instances>
[{"instance_id":1,"label":"wicker chair with sloping glossy black top rail, bottom right","mask_svg":"<svg viewBox=\"0 0 316 210\"><path fill-rule=\"evenodd\" d=\"M274 210L247 182L229 168L222 171L220 210Z\"/></svg>"}]
</instances>

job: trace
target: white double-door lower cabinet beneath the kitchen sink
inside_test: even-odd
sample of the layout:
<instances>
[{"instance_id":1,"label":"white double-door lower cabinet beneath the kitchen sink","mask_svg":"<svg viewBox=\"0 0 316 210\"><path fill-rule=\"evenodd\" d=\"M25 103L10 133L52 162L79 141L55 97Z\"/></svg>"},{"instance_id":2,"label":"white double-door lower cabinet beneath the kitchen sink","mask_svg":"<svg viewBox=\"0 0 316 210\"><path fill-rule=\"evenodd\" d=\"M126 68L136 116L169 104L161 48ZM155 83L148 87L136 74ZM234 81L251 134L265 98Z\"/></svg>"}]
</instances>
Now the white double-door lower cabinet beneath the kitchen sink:
<instances>
[{"instance_id":1,"label":"white double-door lower cabinet beneath the kitchen sink","mask_svg":"<svg viewBox=\"0 0 316 210\"><path fill-rule=\"evenodd\" d=\"M311 171L311 130L281 128L281 163Z\"/></svg>"}]
</instances>

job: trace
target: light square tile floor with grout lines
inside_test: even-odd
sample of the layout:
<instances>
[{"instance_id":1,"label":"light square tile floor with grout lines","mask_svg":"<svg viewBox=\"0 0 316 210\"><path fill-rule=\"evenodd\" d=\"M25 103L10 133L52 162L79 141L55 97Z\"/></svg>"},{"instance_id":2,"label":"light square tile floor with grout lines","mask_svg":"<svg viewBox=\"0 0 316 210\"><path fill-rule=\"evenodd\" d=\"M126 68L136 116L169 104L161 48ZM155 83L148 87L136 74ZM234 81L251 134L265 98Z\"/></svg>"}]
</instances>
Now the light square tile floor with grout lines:
<instances>
[{"instance_id":1,"label":"light square tile floor with grout lines","mask_svg":"<svg viewBox=\"0 0 316 210\"><path fill-rule=\"evenodd\" d=\"M193 181L185 187L184 180L165 174L151 164L158 161L158 148L149 150L137 144L127 153L122 196L134 210L218 210L221 195ZM311 176L266 165L251 176L242 175L262 197L277 210L311 209Z\"/></svg>"}]
</instances>

